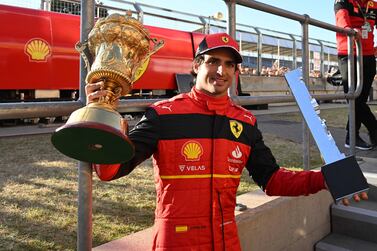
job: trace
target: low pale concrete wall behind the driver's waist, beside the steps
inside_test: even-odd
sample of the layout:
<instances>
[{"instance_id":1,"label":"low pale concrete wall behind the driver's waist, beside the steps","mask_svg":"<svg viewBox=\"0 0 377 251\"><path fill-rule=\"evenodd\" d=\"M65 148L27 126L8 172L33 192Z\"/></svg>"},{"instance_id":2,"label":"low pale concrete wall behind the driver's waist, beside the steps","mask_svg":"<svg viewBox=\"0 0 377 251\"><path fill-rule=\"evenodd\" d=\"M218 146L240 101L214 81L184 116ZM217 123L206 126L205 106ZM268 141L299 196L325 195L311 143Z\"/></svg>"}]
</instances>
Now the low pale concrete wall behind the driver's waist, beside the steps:
<instances>
[{"instance_id":1,"label":"low pale concrete wall behind the driver's waist, beside the steps","mask_svg":"<svg viewBox=\"0 0 377 251\"><path fill-rule=\"evenodd\" d=\"M248 207L236 212L243 251L313 251L314 244L330 233L327 191L311 196L269 197L261 191L237 197ZM146 251L151 249L153 228L114 240L95 251Z\"/></svg>"}]
</instances>

